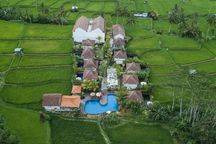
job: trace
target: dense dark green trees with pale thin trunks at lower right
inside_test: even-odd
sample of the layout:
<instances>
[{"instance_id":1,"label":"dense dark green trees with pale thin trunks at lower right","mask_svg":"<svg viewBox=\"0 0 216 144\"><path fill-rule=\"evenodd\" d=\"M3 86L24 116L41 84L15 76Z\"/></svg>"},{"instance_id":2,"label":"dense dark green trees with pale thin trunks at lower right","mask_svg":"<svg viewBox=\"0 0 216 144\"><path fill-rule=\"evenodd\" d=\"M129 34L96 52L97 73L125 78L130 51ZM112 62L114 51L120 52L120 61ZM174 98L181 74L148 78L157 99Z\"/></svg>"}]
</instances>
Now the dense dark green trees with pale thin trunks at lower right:
<instances>
[{"instance_id":1,"label":"dense dark green trees with pale thin trunks at lower right","mask_svg":"<svg viewBox=\"0 0 216 144\"><path fill-rule=\"evenodd\" d=\"M206 75L187 77L191 89L188 101L173 101L172 105L155 104L149 113L151 119L168 122L172 125L172 135L180 143L208 143L216 141L216 111L214 82ZM211 102L209 102L209 100Z\"/></svg>"}]
</instances>

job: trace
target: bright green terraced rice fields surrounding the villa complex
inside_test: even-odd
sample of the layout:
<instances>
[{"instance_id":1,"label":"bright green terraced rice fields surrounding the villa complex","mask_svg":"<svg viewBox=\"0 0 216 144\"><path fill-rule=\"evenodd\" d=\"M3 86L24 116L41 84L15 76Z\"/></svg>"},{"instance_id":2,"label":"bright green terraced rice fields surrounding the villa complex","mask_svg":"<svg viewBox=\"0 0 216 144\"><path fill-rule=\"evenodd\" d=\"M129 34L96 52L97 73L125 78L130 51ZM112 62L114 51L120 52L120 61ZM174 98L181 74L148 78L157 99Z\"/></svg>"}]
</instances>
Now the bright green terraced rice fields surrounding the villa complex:
<instances>
[{"instance_id":1,"label":"bright green terraced rice fields surrounding the villa complex","mask_svg":"<svg viewBox=\"0 0 216 144\"><path fill-rule=\"evenodd\" d=\"M4 83L3 86L0 83L0 114L5 116L8 128L18 135L22 144L104 142L99 128L94 124L85 129L85 123L81 122L77 128L74 122L56 119L51 122L50 128L49 123L39 121L38 109L41 109L43 93L70 93L74 75L71 29L81 15L94 17L103 14L107 28L115 23L124 25L127 36L131 38L127 44L128 51L139 56L151 68L154 101L169 103L173 96L185 99L189 97L191 91L183 88L186 79L182 70L185 69L206 73L209 79L216 82L216 41L208 41L201 48L196 40L171 35L169 31L177 31L177 26L170 24L167 19L167 13L178 3L187 14L197 12L199 26L203 32L207 32L209 25L205 20L206 15L216 13L216 1L190 0L183 3L179 0L149 0L148 4L144 4L142 0L8 0L1 1L0 6L19 6L34 11L41 2L52 11L61 6L69 11L73 4L78 5L80 10L78 13L69 12L67 18L70 24L67 26L0 20L0 82ZM159 20L138 19L134 25L127 25L127 18L115 15L116 8L124 5L133 12L155 10L160 14ZM157 31L162 31L162 34L157 34ZM23 57L17 58L13 55L16 47L23 48ZM175 86L176 84L178 86ZM59 126L56 123L64 125ZM77 132L74 130L71 132L73 128L77 128L79 133L74 134ZM155 137L158 136L157 139L148 134L136 135L131 139L128 137L127 142L144 144L150 140L152 143L173 143L169 131L160 125L136 125L133 128L125 125L106 132L115 144L126 140L125 137L129 136L131 131L145 133L146 129L150 129ZM158 133L154 133L155 130ZM123 131L124 133L121 133ZM62 133L66 134L67 139ZM97 140L91 140L92 136ZM77 137L81 137L82 141ZM136 139L141 137L144 141L137 142Z\"/></svg>"}]
</instances>

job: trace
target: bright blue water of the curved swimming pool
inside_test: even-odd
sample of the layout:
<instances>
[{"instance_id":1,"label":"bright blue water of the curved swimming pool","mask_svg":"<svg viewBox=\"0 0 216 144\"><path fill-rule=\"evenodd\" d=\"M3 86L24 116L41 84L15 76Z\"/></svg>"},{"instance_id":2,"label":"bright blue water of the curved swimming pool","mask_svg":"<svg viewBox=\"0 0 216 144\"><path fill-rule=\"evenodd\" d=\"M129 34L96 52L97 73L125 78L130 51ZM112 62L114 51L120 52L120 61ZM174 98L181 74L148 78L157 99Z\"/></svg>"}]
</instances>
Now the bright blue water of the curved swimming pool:
<instances>
[{"instance_id":1,"label":"bright blue water of the curved swimming pool","mask_svg":"<svg viewBox=\"0 0 216 144\"><path fill-rule=\"evenodd\" d=\"M87 114L102 114L107 111L118 111L118 102L116 96L113 94L108 94L107 97L107 104L101 105L99 100L88 100L85 103L84 111Z\"/></svg>"}]
</instances>

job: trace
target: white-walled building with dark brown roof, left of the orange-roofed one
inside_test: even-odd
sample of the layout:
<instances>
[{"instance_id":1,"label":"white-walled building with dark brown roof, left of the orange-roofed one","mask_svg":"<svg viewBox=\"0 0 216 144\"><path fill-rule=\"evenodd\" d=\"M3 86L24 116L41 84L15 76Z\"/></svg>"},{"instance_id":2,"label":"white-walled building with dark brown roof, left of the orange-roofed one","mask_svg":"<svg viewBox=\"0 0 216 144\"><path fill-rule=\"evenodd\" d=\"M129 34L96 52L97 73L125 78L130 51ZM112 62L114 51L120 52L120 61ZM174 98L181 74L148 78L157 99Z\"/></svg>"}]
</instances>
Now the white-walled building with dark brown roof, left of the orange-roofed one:
<instances>
[{"instance_id":1,"label":"white-walled building with dark brown roof, left of the orange-roofed one","mask_svg":"<svg viewBox=\"0 0 216 144\"><path fill-rule=\"evenodd\" d=\"M61 96L59 93L50 93L43 95L42 107L46 111L60 111Z\"/></svg>"}]
</instances>

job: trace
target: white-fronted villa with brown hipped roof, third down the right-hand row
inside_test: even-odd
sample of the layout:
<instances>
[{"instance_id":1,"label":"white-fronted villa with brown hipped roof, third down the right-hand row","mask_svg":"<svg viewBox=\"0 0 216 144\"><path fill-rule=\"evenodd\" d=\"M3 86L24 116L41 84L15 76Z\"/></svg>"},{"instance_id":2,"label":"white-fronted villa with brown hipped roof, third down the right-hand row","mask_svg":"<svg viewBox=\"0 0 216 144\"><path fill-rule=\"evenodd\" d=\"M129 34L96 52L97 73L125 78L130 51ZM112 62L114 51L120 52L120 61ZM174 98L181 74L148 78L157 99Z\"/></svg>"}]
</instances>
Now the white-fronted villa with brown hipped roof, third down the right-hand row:
<instances>
[{"instance_id":1,"label":"white-fronted villa with brown hipped roof, third down the right-hand row","mask_svg":"<svg viewBox=\"0 0 216 144\"><path fill-rule=\"evenodd\" d=\"M123 50L114 51L113 58L116 64L124 64L124 61L127 59L127 53Z\"/></svg>"}]
</instances>

